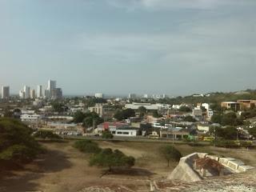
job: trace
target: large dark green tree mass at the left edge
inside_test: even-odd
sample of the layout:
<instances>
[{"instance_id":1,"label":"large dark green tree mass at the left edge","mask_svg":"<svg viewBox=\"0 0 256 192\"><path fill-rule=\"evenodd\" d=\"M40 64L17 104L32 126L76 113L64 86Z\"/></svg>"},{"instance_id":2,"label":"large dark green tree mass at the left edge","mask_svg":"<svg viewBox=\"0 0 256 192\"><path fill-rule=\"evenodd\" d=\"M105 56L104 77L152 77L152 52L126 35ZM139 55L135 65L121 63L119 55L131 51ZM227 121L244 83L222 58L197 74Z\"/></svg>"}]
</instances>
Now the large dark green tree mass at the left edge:
<instances>
[{"instance_id":1,"label":"large dark green tree mass at the left edge","mask_svg":"<svg viewBox=\"0 0 256 192\"><path fill-rule=\"evenodd\" d=\"M0 169L6 164L28 162L42 152L32 130L13 118L0 118Z\"/></svg>"}]
</instances>

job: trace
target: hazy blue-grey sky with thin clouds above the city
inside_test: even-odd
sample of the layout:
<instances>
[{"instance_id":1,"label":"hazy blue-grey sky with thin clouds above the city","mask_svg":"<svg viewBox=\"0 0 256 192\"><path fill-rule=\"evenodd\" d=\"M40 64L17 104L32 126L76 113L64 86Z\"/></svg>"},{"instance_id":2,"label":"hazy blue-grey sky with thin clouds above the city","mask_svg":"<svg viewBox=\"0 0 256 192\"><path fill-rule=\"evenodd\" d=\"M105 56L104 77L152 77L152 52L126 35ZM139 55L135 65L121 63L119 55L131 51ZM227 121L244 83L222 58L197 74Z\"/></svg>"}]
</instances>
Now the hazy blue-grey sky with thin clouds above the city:
<instances>
[{"instance_id":1,"label":"hazy blue-grey sky with thin clouds above the city","mask_svg":"<svg viewBox=\"0 0 256 192\"><path fill-rule=\"evenodd\" d=\"M0 86L64 94L256 89L255 0L0 0Z\"/></svg>"}]
</instances>

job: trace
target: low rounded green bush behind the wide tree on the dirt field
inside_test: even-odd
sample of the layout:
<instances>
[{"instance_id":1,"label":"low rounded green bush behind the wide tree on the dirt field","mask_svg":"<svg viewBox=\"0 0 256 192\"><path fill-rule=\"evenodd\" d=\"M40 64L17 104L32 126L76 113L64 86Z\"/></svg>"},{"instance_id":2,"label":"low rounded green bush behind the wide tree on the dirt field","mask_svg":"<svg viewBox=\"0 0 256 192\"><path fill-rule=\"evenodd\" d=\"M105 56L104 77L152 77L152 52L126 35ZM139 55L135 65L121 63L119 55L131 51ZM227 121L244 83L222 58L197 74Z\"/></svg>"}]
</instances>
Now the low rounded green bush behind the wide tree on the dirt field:
<instances>
[{"instance_id":1,"label":"low rounded green bush behind the wide tree on the dirt field","mask_svg":"<svg viewBox=\"0 0 256 192\"><path fill-rule=\"evenodd\" d=\"M74 147L83 153L98 154L101 149L96 142L90 140L81 140L74 143Z\"/></svg>"}]
</instances>

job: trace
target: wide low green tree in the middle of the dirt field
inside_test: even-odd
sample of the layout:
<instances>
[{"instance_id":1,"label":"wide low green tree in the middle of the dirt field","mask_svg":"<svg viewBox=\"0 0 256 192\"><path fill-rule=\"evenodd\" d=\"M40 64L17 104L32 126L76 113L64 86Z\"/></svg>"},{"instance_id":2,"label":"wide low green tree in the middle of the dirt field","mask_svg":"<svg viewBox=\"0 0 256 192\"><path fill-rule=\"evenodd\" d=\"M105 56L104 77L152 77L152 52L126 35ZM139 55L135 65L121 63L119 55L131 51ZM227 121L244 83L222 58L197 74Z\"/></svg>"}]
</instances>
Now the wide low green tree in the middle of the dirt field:
<instances>
[{"instance_id":1,"label":"wide low green tree in the middle of the dirt field","mask_svg":"<svg viewBox=\"0 0 256 192\"><path fill-rule=\"evenodd\" d=\"M111 150L109 148L102 150L90 158L90 166L108 167L109 171L113 167L127 167L134 166L135 158L126 156L120 150Z\"/></svg>"}]
</instances>

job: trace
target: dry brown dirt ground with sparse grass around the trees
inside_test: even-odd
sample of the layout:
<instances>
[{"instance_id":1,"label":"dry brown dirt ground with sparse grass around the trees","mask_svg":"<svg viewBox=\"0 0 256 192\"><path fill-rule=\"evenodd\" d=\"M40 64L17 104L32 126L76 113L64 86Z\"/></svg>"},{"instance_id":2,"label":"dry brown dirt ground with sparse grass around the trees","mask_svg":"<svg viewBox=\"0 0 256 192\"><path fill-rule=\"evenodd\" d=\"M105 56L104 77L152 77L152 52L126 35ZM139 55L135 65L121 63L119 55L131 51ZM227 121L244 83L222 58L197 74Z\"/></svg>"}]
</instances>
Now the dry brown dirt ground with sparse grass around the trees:
<instances>
[{"instance_id":1,"label":"dry brown dirt ground with sparse grass around the trees","mask_svg":"<svg viewBox=\"0 0 256 192\"><path fill-rule=\"evenodd\" d=\"M149 191L150 180L166 178L178 162L170 163L159 155L163 143L146 142L98 142L102 148L122 150L136 158L129 175L102 176L102 169L88 166L88 154L72 147L72 142L43 143L46 154L22 170L0 173L0 192L75 192L75 191ZM211 152L226 157L239 158L250 166L256 166L256 150L227 150L212 146L178 145L183 155L193 152ZM86 190L90 186L106 187L106 190ZM86 188L87 187L87 188Z\"/></svg>"}]
</instances>

